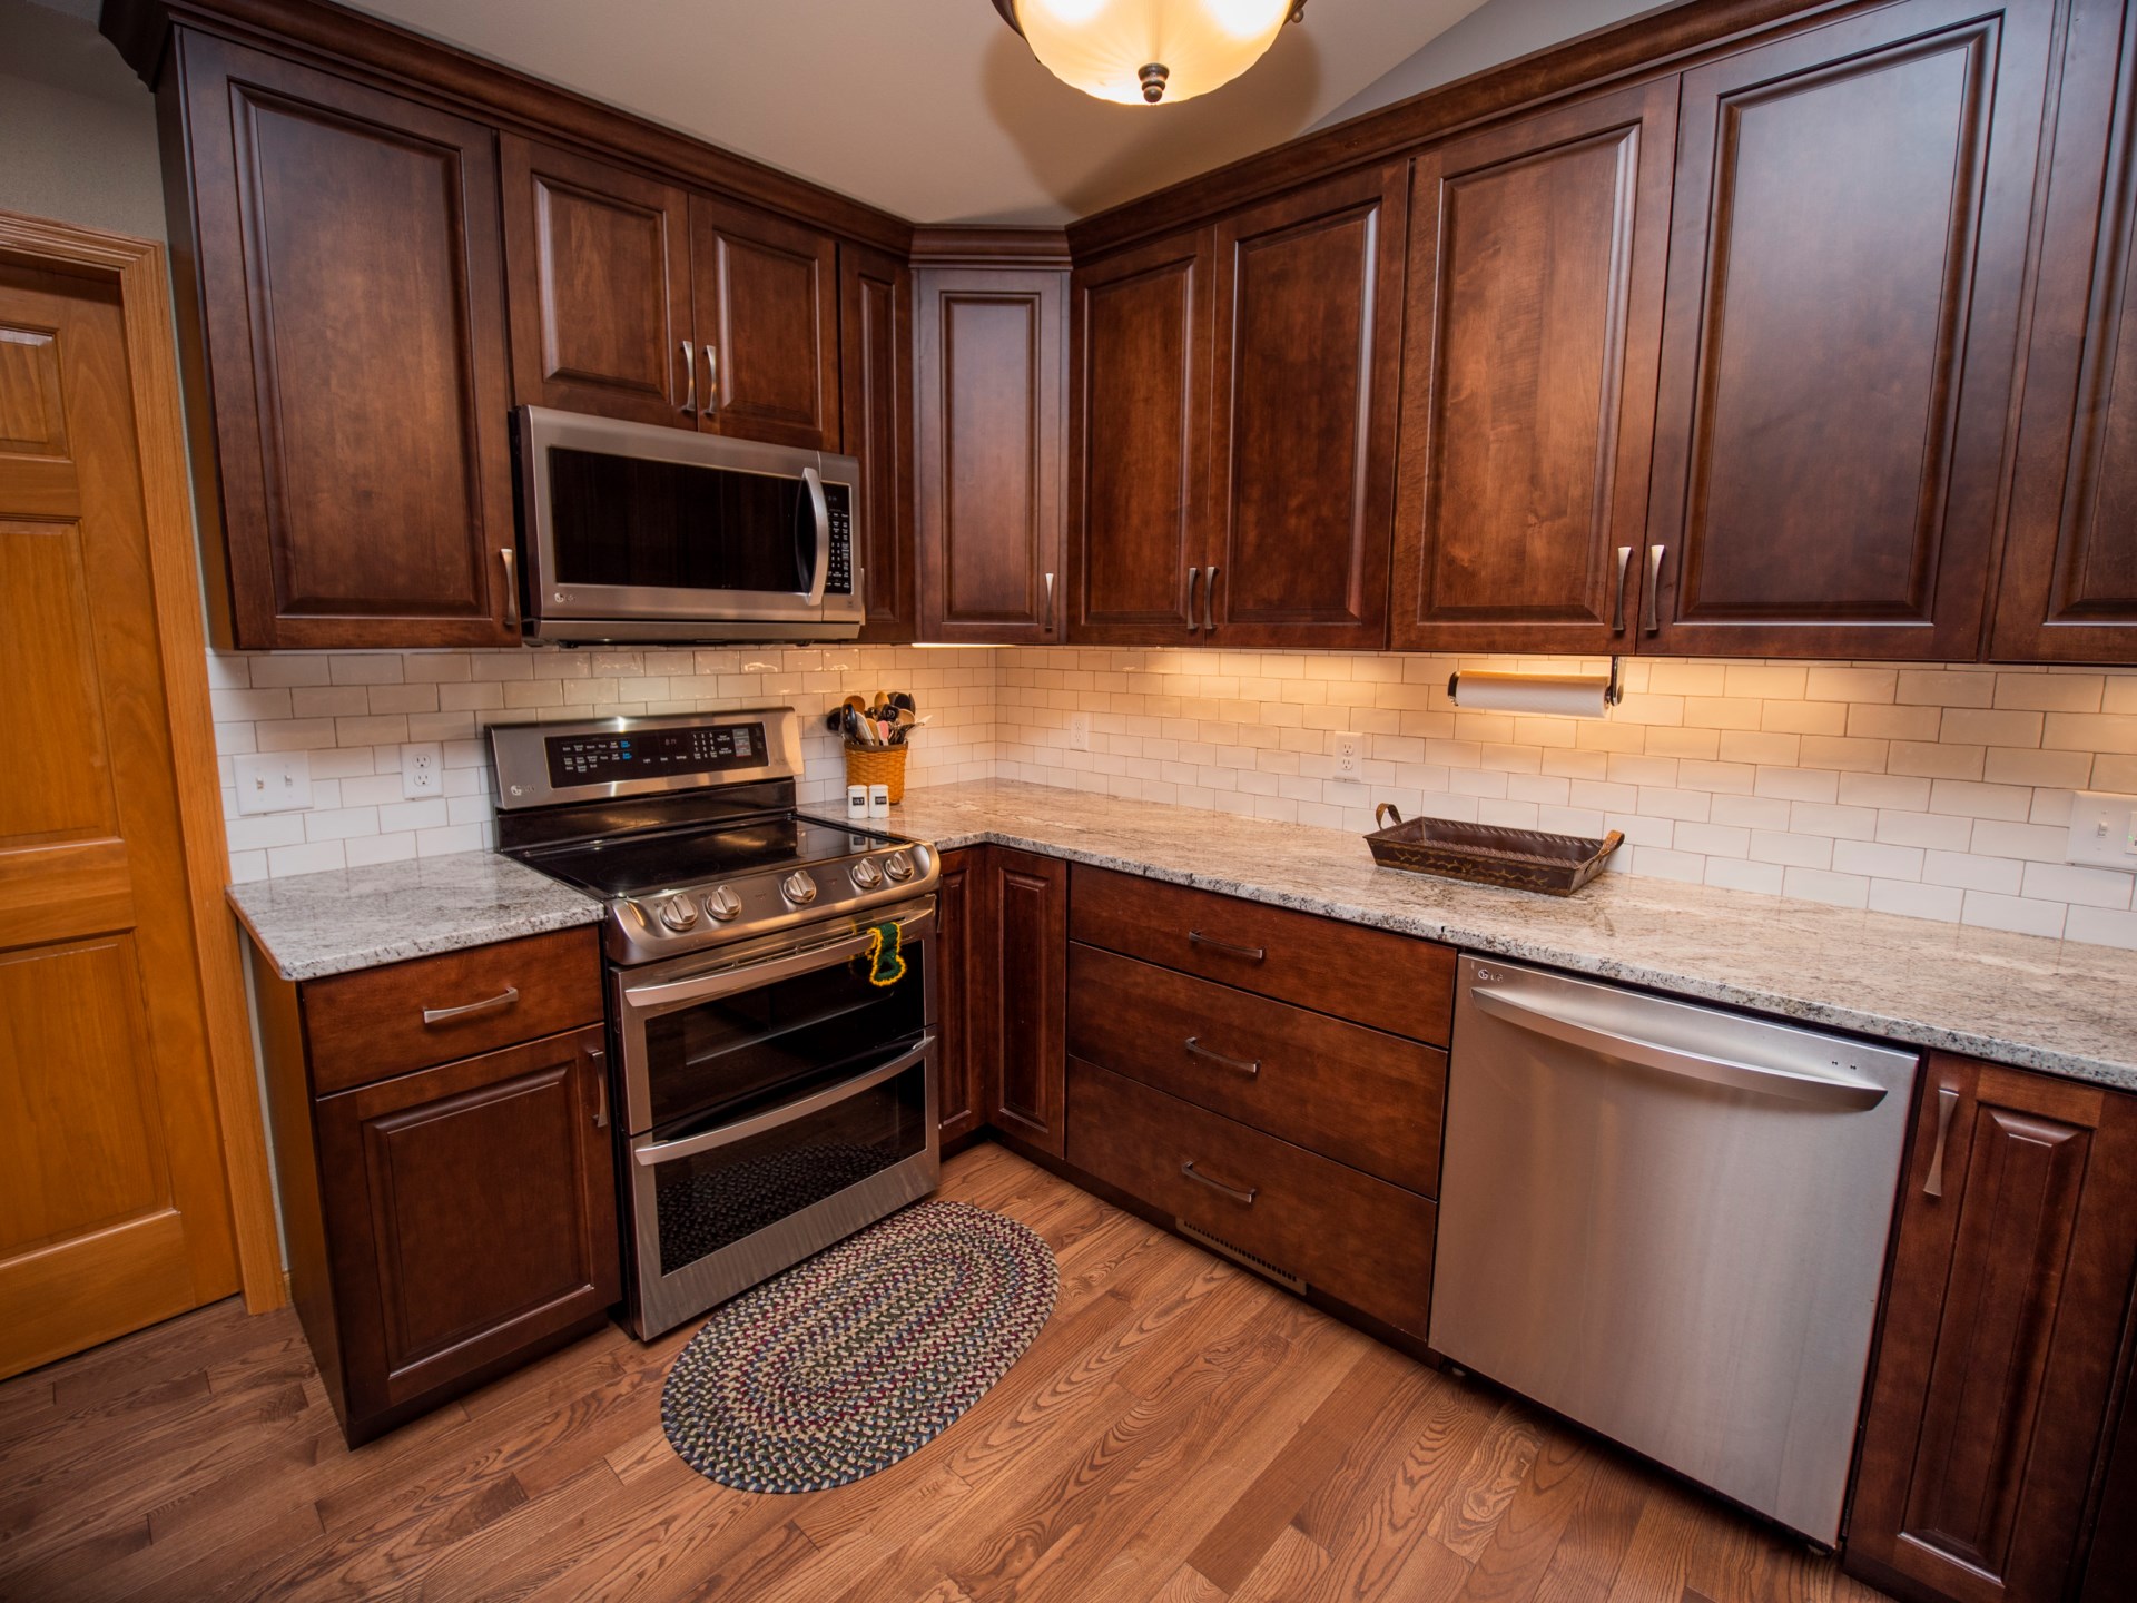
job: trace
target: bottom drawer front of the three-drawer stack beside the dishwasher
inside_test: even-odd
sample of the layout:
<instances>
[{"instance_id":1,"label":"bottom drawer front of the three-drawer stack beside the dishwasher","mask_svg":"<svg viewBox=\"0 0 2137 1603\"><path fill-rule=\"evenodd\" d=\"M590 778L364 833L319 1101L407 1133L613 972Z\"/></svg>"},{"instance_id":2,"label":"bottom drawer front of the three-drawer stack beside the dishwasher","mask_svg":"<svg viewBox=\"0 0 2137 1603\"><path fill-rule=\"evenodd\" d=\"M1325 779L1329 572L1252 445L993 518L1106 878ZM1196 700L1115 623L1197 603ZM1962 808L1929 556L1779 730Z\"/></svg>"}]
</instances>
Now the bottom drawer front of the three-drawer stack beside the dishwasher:
<instances>
[{"instance_id":1,"label":"bottom drawer front of the three-drawer stack beside the dishwasher","mask_svg":"<svg viewBox=\"0 0 2137 1603\"><path fill-rule=\"evenodd\" d=\"M1425 1336L1436 1210L1423 1197L1081 1058L1068 1060L1068 1163Z\"/></svg>"}]
</instances>

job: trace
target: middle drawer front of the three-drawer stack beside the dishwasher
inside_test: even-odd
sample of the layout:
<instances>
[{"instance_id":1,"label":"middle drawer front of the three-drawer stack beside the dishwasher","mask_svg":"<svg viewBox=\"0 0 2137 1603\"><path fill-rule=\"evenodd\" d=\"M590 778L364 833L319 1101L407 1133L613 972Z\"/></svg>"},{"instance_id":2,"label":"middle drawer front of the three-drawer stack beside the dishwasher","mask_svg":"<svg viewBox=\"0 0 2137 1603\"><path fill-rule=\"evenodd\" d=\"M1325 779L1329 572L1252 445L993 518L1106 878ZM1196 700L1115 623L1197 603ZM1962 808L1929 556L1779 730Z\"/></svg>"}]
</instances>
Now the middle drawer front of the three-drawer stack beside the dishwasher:
<instances>
[{"instance_id":1,"label":"middle drawer front of the three-drawer stack beside the dishwasher","mask_svg":"<svg viewBox=\"0 0 2137 1603\"><path fill-rule=\"evenodd\" d=\"M1068 1052L1438 1195L1447 1105L1438 1047L1073 945Z\"/></svg>"}]
</instances>

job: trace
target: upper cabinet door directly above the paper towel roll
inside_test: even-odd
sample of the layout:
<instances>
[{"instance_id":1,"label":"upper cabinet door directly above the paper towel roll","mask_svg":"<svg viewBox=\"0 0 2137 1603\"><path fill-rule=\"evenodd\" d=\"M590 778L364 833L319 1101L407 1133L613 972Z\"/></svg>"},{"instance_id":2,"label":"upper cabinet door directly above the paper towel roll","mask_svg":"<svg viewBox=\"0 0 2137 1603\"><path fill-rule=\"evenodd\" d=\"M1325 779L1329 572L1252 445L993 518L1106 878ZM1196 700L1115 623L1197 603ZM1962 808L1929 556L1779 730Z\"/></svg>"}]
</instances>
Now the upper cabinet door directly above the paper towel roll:
<instances>
[{"instance_id":1,"label":"upper cabinet door directly above the paper towel roll","mask_svg":"<svg viewBox=\"0 0 2137 1603\"><path fill-rule=\"evenodd\" d=\"M1675 135L1663 79L1417 158L1395 650L1631 650Z\"/></svg>"}]
</instances>

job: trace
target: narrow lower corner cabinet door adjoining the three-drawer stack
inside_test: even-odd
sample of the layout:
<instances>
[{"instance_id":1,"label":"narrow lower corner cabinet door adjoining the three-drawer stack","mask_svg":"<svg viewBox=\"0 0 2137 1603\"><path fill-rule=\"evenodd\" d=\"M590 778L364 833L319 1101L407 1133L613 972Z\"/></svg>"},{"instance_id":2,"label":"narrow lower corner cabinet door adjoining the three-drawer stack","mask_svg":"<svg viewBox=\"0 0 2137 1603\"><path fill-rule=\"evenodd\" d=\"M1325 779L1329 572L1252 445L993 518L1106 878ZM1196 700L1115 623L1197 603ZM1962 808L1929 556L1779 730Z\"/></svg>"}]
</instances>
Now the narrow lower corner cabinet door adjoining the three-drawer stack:
<instances>
[{"instance_id":1,"label":"narrow lower corner cabinet door adjoining the three-drawer stack","mask_svg":"<svg viewBox=\"0 0 2137 1603\"><path fill-rule=\"evenodd\" d=\"M989 985L989 1120L1021 1141L1064 1152L1068 1060L1068 863L989 849L985 953Z\"/></svg>"}]
</instances>

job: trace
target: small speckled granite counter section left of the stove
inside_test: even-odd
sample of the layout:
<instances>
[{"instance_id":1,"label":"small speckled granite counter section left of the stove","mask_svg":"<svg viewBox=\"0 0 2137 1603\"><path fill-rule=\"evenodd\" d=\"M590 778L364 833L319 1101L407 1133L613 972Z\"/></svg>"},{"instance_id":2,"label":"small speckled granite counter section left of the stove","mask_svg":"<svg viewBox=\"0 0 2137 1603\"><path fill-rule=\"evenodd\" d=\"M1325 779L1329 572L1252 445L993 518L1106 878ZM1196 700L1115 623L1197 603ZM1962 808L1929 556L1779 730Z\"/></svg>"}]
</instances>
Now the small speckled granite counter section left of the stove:
<instances>
[{"instance_id":1,"label":"small speckled granite counter section left of the stove","mask_svg":"<svg viewBox=\"0 0 2137 1603\"><path fill-rule=\"evenodd\" d=\"M487 851L254 881L229 896L282 979L325 979L600 919L600 902Z\"/></svg>"}]
</instances>

